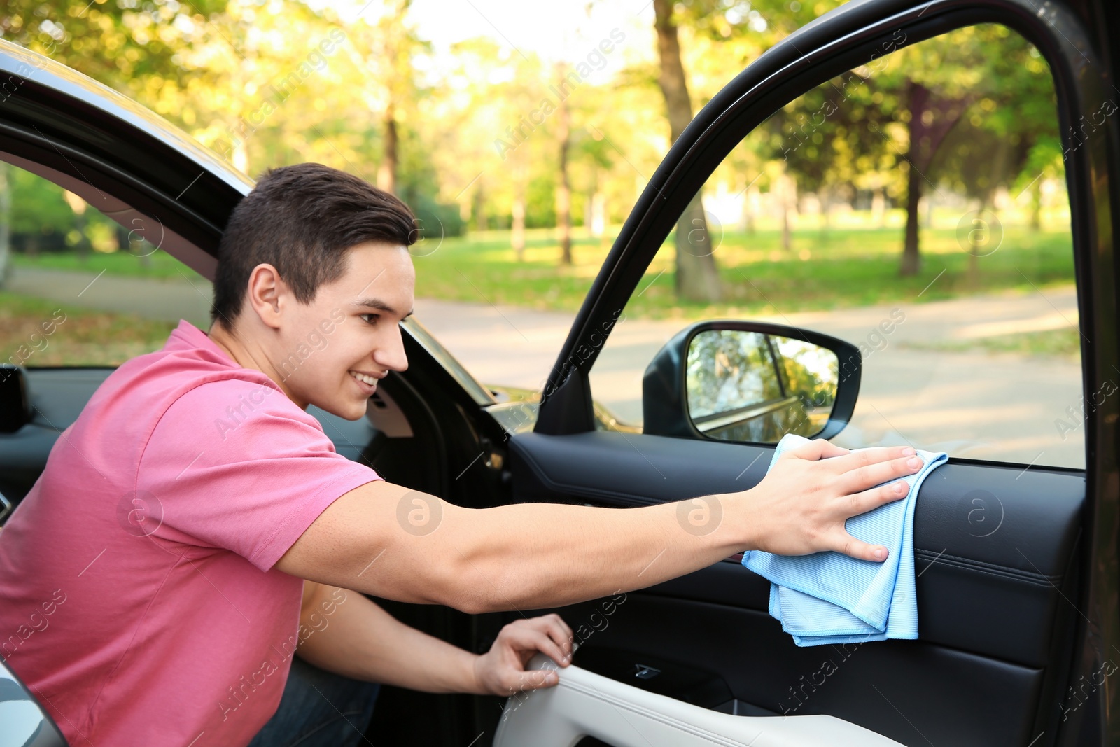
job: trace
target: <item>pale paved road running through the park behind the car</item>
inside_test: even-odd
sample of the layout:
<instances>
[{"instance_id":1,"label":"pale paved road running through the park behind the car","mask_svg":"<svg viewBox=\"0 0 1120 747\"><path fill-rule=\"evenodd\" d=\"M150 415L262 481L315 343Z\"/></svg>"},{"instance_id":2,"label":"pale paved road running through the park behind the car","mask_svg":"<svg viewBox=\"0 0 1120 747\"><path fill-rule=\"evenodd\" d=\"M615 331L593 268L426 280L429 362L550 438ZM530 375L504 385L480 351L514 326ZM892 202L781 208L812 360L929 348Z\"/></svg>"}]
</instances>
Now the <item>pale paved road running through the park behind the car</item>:
<instances>
[{"instance_id":1,"label":"pale paved road running through the park behind the car","mask_svg":"<svg viewBox=\"0 0 1120 747\"><path fill-rule=\"evenodd\" d=\"M211 288L200 281L152 281L93 273L17 269L10 289L87 308L180 318L208 325ZM93 284L90 284L93 281ZM895 311L898 309L898 311ZM880 321L905 316L889 335ZM417 317L482 381L539 389L556 362L572 315L488 304L417 299ZM1082 466L1076 361L908 347L990 335L1058 329L1077 323L1072 289L992 295L931 304L866 307L765 317L864 344L861 394L844 446L911 442L955 456ZM642 418L642 373L685 325L625 319L591 374L597 400L623 419ZM1064 432L1056 420L1075 426Z\"/></svg>"}]
</instances>

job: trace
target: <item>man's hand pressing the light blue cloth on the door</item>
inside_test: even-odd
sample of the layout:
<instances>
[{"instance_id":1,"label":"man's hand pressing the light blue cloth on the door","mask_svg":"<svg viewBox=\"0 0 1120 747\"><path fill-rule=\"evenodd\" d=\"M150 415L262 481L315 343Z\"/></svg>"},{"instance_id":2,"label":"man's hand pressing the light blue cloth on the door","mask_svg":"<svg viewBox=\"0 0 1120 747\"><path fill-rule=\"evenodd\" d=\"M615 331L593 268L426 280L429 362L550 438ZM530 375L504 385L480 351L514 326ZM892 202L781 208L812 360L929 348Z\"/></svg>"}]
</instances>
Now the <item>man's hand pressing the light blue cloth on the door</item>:
<instances>
[{"instance_id":1,"label":"man's hand pressing the light blue cloth on the door","mask_svg":"<svg viewBox=\"0 0 1120 747\"><path fill-rule=\"evenodd\" d=\"M906 497L909 487L902 480L880 485L921 468L911 447L849 451L818 439L790 449L744 494L753 503L750 549L783 555L834 550L860 560L886 560L885 547L848 534L844 522Z\"/></svg>"}]
</instances>

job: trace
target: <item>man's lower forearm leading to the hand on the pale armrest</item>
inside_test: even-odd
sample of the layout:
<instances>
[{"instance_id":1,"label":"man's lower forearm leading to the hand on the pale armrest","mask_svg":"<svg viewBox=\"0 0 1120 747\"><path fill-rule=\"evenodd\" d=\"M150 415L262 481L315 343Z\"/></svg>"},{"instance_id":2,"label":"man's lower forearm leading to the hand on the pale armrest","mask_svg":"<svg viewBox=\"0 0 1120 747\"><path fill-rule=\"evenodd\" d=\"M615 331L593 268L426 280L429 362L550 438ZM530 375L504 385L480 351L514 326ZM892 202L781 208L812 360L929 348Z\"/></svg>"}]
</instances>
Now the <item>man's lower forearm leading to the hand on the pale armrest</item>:
<instances>
[{"instance_id":1,"label":"man's lower forearm leading to the hand on the pale armrest","mask_svg":"<svg viewBox=\"0 0 1120 747\"><path fill-rule=\"evenodd\" d=\"M404 625L357 591L305 581L297 654L328 672L423 692L480 692L477 656Z\"/></svg>"}]
</instances>

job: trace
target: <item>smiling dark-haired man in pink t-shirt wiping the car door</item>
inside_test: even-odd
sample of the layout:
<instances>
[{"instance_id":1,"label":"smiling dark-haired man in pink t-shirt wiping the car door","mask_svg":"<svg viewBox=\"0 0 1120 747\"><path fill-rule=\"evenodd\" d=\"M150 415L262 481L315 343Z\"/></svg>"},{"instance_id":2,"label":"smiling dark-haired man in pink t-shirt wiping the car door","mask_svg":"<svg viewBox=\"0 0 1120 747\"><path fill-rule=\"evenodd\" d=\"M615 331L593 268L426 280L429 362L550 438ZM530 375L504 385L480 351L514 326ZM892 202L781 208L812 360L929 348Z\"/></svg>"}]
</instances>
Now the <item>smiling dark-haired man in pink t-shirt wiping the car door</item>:
<instances>
[{"instance_id":1,"label":"smiling dark-haired man in pink t-shirt wiping the car door","mask_svg":"<svg viewBox=\"0 0 1120 747\"><path fill-rule=\"evenodd\" d=\"M312 702L362 721L372 701L328 697L327 673L507 695L558 681L526 676L536 651L570 660L556 616L506 626L476 656L363 594L477 614L645 587L745 549L886 557L844 520L903 497L902 482L876 486L921 461L825 441L719 496L722 522L703 536L672 504L470 510L436 496L422 499L437 530L405 531L398 510L417 494L336 454L306 408L362 418L377 381L408 366L414 237L409 209L356 177L265 174L222 239L208 335L180 321L60 435L0 534L0 653L72 745L323 737ZM297 646L311 666L293 665Z\"/></svg>"}]
</instances>

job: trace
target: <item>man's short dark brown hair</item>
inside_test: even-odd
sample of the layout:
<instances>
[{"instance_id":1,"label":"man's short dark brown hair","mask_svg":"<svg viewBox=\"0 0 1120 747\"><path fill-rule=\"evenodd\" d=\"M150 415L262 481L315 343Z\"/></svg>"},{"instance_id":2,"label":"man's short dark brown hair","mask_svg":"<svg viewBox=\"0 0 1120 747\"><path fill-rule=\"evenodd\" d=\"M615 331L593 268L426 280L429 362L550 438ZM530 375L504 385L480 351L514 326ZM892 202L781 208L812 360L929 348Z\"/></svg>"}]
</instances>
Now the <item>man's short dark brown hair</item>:
<instances>
[{"instance_id":1,"label":"man's short dark brown hair","mask_svg":"<svg viewBox=\"0 0 1120 747\"><path fill-rule=\"evenodd\" d=\"M230 216L217 249L211 321L241 314L249 276L268 263L310 304L319 286L342 277L346 250L368 241L411 245L412 211L364 179L321 164L269 169Z\"/></svg>"}]
</instances>

